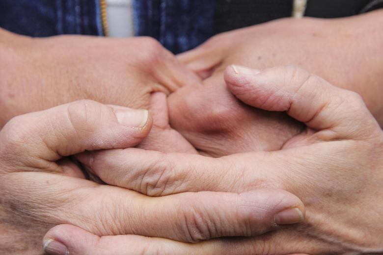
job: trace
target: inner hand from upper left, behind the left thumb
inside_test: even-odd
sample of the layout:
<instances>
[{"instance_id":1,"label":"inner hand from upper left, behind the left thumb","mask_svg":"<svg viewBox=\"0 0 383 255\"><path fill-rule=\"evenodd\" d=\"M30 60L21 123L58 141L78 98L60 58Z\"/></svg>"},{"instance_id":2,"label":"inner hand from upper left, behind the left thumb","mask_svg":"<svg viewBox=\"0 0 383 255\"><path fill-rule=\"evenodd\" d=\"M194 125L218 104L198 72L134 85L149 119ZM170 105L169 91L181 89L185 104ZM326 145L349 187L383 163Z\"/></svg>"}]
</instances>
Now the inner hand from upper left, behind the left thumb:
<instances>
[{"instance_id":1,"label":"inner hand from upper left, behind the left thumb","mask_svg":"<svg viewBox=\"0 0 383 255\"><path fill-rule=\"evenodd\" d=\"M0 29L0 55L0 128L14 116L81 99L148 109L152 92L168 94L199 82L160 43L146 37L31 39ZM153 132L147 149L192 150L169 126L155 123ZM163 140L176 142L156 144L161 133Z\"/></svg>"}]
</instances>

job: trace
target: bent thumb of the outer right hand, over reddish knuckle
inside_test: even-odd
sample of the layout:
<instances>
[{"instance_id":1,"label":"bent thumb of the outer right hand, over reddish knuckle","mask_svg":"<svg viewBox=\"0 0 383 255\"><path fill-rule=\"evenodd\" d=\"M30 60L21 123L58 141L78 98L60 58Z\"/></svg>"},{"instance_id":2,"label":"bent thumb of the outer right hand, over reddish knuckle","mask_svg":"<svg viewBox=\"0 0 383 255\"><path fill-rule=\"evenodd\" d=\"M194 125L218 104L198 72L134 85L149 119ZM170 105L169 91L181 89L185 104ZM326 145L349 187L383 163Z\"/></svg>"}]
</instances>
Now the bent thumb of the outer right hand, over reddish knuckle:
<instances>
[{"instance_id":1,"label":"bent thumb of the outer right hand, over reddish knuckle","mask_svg":"<svg viewBox=\"0 0 383 255\"><path fill-rule=\"evenodd\" d=\"M320 133L327 140L365 136L366 123L375 122L358 94L297 67L259 71L231 66L224 77L241 101L269 111L286 111L309 128L328 129Z\"/></svg>"}]
</instances>

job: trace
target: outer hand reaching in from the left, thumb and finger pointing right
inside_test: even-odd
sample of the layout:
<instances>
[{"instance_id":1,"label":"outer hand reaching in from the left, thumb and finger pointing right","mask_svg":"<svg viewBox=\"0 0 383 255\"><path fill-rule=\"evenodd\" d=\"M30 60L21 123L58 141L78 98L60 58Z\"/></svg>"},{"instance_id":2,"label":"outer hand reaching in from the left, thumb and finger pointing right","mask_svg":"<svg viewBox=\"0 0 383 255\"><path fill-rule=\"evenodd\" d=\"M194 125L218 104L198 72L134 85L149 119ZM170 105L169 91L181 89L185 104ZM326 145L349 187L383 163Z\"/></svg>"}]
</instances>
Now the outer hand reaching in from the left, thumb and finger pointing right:
<instances>
[{"instance_id":1,"label":"outer hand reaching in from the left, thumb and finger pointing right","mask_svg":"<svg viewBox=\"0 0 383 255\"><path fill-rule=\"evenodd\" d=\"M274 229L275 219L281 217L284 224L301 221L283 218L291 208L304 213L301 201L283 190L152 198L90 181L69 158L84 151L135 146L151 125L146 110L94 101L10 120L0 131L0 253L40 254L43 235L64 223L97 235L195 242L260 234ZM210 230L211 235L203 235Z\"/></svg>"}]
</instances>

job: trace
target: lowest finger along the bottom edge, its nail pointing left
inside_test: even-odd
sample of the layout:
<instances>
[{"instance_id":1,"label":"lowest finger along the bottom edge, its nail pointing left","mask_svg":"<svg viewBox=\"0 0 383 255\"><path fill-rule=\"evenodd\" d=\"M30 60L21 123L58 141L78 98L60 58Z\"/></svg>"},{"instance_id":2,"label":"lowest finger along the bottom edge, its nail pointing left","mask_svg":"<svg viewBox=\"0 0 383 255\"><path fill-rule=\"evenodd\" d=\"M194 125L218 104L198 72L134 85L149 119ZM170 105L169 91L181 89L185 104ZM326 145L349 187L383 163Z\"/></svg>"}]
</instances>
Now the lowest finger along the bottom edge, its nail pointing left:
<instances>
[{"instance_id":1,"label":"lowest finger along the bottom edge, its nail pointing left","mask_svg":"<svg viewBox=\"0 0 383 255\"><path fill-rule=\"evenodd\" d=\"M253 238L220 238L196 244L138 235L99 237L71 225L50 229L43 238L49 255L209 254L303 255L342 253L341 247L320 239L304 238L293 231L279 231Z\"/></svg>"}]
</instances>

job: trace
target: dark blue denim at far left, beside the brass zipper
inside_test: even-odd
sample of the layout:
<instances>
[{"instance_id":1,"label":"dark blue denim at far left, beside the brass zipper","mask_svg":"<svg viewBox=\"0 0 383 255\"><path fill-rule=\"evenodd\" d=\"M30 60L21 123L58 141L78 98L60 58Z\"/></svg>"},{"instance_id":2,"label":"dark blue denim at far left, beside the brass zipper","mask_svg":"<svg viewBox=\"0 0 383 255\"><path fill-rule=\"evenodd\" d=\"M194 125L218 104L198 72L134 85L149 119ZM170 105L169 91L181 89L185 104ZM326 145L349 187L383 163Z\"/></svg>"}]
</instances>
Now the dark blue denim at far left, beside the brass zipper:
<instances>
[{"instance_id":1,"label":"dark blue denim at far left, beside the brass zipper","mask_svg":"<svg viewBox=\"0 0 383 255\"><path fill-rule=\"evenodd\" d=\"M0 26L34 37L102 35L99 0L0 0Z\"/></svg>"}]
</instances>

